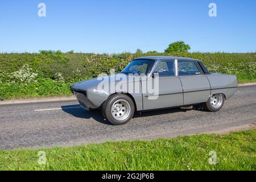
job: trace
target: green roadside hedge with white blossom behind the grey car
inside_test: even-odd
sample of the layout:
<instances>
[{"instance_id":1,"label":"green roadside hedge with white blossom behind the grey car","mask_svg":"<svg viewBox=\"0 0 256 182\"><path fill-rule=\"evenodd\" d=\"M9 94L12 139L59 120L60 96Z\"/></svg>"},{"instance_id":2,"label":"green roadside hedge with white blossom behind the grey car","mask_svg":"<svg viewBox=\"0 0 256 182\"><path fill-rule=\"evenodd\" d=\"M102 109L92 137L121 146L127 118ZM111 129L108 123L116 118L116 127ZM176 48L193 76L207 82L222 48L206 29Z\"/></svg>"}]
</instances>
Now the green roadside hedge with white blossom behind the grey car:
<instances>
[{"instance_id":1,"label":"green roadside hedge with white blossom behind the grey car","mask_svg":"<svg viewBox=\"0 0 256 182\"><path fill-rule=\"evenodd\" d=\"M112 68L118 73L137 57L156 55L203 60L210 72L237 75L238 82L256 81L256 53L189 53L190 47L182 44L170 44L164 53L0 53L0 100L68 96L72 82L109 74Z\"/></svg>"}]
</instances>

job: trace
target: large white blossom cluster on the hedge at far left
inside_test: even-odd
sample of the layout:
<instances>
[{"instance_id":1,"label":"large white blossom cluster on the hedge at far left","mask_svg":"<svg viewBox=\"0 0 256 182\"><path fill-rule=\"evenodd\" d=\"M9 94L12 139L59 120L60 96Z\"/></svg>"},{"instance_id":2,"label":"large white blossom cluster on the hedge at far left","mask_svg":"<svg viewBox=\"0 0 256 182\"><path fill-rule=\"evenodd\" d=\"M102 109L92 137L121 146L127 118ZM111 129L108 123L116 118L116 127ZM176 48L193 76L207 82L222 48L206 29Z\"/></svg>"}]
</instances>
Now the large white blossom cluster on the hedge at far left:
<instances>
[{"instance_id":1,"label":"large white blossom cluster on the hedge at far left","mask_svg":"<svg viewBox=\"0 0 256 182\"><path fill-rule=\"evenodd\" d=\"M38 73L32 72L30 65L24 64L19 71L13 72L10 74L11 82L21 82L21 83L30 83L35 81L35 78L38 76Z\"/></svg>"}]
</instances>

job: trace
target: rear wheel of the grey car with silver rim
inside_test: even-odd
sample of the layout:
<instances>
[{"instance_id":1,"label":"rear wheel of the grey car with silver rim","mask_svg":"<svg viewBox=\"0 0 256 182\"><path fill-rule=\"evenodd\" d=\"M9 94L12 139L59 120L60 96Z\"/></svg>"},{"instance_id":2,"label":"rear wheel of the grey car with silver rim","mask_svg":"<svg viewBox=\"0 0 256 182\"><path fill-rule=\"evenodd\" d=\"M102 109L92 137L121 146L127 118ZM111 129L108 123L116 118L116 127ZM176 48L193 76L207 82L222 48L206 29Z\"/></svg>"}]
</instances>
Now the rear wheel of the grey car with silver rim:
<instances>
[{"instance_id":1,"label":"rear wheel of the grey car with silver rim","mask_svg":"<svg viewBox=\"0 0 256 182\"><path fill-rule=\"evenodd\" d=\"M209 100L203 104L203 108L207 111L216 112L222 108L224 101L224 94L213 94L210 96Z\"/></svg>"}]
</instances>

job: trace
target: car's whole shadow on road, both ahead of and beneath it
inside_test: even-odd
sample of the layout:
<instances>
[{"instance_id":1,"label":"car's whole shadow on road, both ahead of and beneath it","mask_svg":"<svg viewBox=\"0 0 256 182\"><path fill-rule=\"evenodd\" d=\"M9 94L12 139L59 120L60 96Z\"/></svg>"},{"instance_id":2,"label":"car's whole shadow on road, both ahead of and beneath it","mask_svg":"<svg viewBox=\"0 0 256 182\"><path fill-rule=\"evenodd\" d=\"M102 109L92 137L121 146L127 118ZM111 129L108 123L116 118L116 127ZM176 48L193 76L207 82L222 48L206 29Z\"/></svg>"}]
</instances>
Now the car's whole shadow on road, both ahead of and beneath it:
<instances>
[{"instance_id":1,"label":"car's whole shadow on road, both ahead of and beneath it","mask_svg":"<svg viewBox=\"0 0 256 182\"><path fill-rule=\"evenodd\" d=\"M100 122L102 124L112 125L109 121L103 118L101 114L101 110L88 111L88 110L82 109L80 105L61 106L61 109L65 113L71 114L76 118L82 118L82 119L93 118L95 121ZM175 107L175 108L169 108L169 109L136 112L134 114L134 118L150 117L154 115L164 115L164 114L171 114L171 113L177 113L177 112L186 112L188 110L191 110L191 109L180 109L180 107ZM193 110L203 111L199 108L193 108Z\"/></svg>"}]
</instances>

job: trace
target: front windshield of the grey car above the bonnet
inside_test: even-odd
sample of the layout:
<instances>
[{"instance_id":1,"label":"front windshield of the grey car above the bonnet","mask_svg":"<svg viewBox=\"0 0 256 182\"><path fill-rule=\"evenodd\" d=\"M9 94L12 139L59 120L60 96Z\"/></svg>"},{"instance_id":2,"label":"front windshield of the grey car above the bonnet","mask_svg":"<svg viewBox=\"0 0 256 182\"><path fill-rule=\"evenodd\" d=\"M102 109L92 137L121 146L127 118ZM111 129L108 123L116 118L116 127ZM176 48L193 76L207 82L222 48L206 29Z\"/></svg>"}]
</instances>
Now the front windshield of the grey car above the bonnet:
<instances>
[{"instance_id":1,"label":"front windshield of the grey car above the bonnet","mask_svg":"<svg viewBox=\"0 0 256 182\"><path fill-rule=\"evenodd\" d=\"M124 74L145 74L151 72L151 69L154 65L155 61L153 60L134 60L131 61L130 64L127 65L125 69L121 73Z\"/></svg>"}]
</instances>

